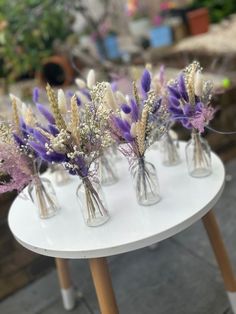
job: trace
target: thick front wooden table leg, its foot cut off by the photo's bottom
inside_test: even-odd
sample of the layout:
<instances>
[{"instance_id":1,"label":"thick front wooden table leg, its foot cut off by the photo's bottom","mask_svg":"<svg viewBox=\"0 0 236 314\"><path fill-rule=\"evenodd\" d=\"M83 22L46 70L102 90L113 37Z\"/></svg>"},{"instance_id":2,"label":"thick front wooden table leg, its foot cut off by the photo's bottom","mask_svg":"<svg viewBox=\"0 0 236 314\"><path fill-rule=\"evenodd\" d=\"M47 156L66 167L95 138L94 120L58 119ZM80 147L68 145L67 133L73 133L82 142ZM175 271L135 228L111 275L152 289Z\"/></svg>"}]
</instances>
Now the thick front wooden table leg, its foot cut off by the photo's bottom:
<instances>
[{"instance_id":1,"label":"thick front wooden table leg, its foot cut off by the photo's bottom","mask_svg":"<svg viewBox=\"0 0 236 314\"><path fill-rule=\"evenodd\" d=\"M118 314L115 294L106 258L92 258L89 266L96 289L98 303L102 314Z\"/></svg>"}]
</instances>

